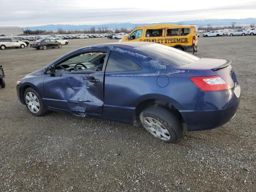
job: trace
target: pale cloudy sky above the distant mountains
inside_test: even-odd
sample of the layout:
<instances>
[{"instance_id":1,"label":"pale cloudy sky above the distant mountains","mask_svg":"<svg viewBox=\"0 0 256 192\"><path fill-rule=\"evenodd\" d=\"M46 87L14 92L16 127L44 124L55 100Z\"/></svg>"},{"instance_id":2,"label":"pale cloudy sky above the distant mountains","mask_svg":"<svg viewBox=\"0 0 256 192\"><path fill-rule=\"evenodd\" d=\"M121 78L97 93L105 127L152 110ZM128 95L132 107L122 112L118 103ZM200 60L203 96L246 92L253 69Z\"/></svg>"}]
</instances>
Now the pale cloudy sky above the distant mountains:
<instances>
[{"instance_id":1,"label":"pale cloudy sky above the distant mountains","mask_svg":"<svg viewBox=\"0 0 256 192\"><path fill-rule=\"evenodd\" d=\"M256 18L256 0L0 0L0 13L0 26L20 27L243 19Z\"/></svg>"}]
</instances>

